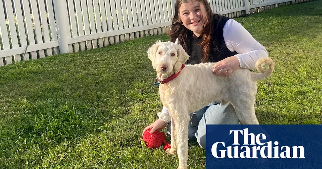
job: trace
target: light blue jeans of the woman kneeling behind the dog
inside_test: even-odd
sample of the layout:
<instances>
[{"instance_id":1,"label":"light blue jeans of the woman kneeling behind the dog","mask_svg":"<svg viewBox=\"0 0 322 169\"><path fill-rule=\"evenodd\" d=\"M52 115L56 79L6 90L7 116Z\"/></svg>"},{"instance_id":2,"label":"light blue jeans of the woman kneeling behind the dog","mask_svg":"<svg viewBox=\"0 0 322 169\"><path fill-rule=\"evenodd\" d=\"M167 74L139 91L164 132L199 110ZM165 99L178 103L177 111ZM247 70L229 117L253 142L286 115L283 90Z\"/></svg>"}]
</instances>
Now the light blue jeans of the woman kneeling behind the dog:
<instances>
[{"instance_id":1,"label":"light blue jeans of the woman kneeling behind the dog","mask_svg":"<svg viewBox=\"0 0 322 169\"><path fill-rule=\"evenodd\" d=\"M231 103L224 106L220 102L214 102L195 112L197 116L197 127L188 126L189 140L196 138L198 144L206 149L206 125L207 124L240 124ZM190 114L190 119L193 113ZM167 135L171 137L171 121L167 125Z\"/></svg>"}]
</instances>

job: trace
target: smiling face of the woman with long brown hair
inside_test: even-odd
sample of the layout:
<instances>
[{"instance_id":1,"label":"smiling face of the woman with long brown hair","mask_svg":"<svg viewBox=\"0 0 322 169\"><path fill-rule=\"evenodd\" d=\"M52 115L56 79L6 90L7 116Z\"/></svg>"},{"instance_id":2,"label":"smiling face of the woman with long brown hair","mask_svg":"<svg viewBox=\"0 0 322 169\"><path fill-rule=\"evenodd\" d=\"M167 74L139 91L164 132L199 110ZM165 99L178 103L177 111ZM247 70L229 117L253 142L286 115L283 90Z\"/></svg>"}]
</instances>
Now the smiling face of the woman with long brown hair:
<instances>
[{"instance_id":1,"label":"smiling face of the woman with long brown hair","mask_svg":"<svg viewBox=\"0 0 322 169\"><path fill-rule=\"evenodd\" d=\"M183 3L179 8L179 17L185 27L191 30L195 36L199 37L207 22L207 12L202 3L190 1Z\"/></svg>"}]
</instances>

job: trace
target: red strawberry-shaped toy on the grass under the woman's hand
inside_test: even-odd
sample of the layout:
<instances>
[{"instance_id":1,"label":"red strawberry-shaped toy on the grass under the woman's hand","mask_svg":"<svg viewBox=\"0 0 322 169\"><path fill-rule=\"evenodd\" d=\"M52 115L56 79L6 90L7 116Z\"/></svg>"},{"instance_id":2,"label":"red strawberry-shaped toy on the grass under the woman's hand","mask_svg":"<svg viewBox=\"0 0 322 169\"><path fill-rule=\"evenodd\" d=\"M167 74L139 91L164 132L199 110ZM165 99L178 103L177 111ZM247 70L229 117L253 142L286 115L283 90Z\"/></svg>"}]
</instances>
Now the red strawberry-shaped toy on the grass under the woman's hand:
<instances>
[{"instance_id":1,"label":"red strawberry-shaped toy on the grass under the woman's hand","mask_svg":"<svg viewBox=\"0 0 322 169\"><path fill-rule=\"evenodd\" d=\"M165 139L165 133L164 132L158 132L155 131L152 134L150 134L150 130L146 130L143 133L142 140L145 142L145 145L149 148L158 148L164 143L163 149L166 150L168 148L171 148L170 144L166 142Z\"/></svg>"}]
</instances>

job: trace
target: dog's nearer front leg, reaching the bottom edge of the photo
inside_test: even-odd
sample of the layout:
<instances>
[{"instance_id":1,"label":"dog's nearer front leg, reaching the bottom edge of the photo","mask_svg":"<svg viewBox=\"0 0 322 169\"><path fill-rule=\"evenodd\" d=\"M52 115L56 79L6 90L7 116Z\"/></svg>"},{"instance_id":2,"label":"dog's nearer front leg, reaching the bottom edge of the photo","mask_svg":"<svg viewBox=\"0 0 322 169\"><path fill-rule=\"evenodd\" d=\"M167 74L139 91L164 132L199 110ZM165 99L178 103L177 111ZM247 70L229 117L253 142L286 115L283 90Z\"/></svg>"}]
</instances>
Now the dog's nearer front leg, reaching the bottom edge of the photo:
<instances>
[{"instance_id":1,"label":"dog's nearer front leg, reaching the bottom edge of the photo","mask_svg":"<svg viewBox=\"0 0 322 169\"><path fill-rule=\"evenodd\" d=\"M175 124L176 131L176 140L178 143L178 158L179 166L178 169L187 169L187 160L188 160L188 124L189 124L189 115L188 111L180 110L176 112L178 121Z\"/></svg>"}]
</instances>

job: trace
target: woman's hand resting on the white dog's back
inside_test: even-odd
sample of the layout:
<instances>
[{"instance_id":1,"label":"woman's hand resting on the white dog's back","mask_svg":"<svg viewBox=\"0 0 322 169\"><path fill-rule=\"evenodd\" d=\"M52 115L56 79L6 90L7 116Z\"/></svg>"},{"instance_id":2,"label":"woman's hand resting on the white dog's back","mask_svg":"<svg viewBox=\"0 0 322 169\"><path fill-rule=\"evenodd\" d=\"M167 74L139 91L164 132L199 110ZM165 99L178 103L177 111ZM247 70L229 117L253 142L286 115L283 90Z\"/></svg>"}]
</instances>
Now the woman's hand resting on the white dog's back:
<instances>
[{"instance_id":1,"label":"woman's hand resting on the white dog's back","mask_svg":"<svg viewBox=\"0 0 322 169\"><path fill-rule=\"evenodd\" d=\"M213 74L217 76L229 76L240 66L236 56L230 56L213 65Z\"/></svg>"}]
</instances>

